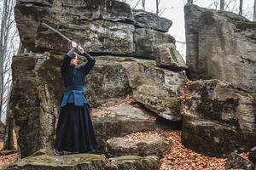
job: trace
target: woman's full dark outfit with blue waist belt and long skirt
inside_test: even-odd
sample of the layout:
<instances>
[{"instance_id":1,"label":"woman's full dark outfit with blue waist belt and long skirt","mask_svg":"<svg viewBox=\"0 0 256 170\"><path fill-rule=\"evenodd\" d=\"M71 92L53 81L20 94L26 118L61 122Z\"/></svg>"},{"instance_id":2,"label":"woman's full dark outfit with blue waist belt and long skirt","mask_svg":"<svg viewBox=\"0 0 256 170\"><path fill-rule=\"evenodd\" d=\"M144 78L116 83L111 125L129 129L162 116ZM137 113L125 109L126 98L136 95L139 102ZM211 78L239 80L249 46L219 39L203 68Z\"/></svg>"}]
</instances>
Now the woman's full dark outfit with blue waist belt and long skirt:
<instances>
[{"instance_id":1,"label":"woman's full dark outfit with blue waist belt and long skirt","mask_svg":"<svg viewBox=\"0 0 256 170\"><path fill-rule=\"evenodd\" d=\"M82 54L88 60L85 65L70 65L72 48L61 63L61 76L66 87L61 97L61 113L56 128L55 150L90 152L97 149L96 137L90 120L89 103L84 94L84 77L96 63L96 59Z\"/></svg>"}]
</instances>

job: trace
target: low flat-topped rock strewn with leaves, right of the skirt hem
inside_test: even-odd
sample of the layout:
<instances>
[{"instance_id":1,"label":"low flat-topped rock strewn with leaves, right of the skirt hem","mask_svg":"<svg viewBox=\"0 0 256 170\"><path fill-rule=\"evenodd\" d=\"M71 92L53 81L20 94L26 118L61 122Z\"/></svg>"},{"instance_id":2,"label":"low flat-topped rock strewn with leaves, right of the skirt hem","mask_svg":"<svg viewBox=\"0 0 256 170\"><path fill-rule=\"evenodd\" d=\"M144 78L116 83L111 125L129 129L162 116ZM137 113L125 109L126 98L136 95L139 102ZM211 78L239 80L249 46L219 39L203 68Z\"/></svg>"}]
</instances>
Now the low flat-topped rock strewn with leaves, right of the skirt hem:
<instances>
[{"instance_id":1,"label":"low flat-topped rock strewn with leaves, right of the skirt hem","mask_svg":"<svg viewBox=\"0 0 256 170\"><path fill-rule=\"evenodd\" d=\"M168 148L168 140L158 134L147 133L140 136L139 133L133 133L124 137L113 137L107 140L107 152L110 156L154 155L162 158Z\"/></svg>"}]
</instances>

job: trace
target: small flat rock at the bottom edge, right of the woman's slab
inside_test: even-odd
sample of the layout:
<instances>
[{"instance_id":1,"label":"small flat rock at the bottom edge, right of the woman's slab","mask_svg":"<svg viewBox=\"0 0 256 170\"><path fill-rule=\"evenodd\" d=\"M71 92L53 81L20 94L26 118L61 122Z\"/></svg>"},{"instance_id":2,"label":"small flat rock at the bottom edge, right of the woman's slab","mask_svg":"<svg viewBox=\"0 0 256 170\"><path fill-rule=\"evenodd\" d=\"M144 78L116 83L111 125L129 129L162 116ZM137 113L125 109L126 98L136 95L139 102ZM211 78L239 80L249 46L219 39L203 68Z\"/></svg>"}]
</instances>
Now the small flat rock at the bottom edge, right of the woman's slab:
<instances>
[{"instance_id":1,"label":"small flat rock at the bottom edge, right of the woman's slab","mask_svg":"<svg viewBox=\"0 0 256 170\"><path fill-rule=\"evenodd\" d=\"M108 170L158 170L160 161L157 156L119 156L109 158Z\"/></svg>"}]
</instances>

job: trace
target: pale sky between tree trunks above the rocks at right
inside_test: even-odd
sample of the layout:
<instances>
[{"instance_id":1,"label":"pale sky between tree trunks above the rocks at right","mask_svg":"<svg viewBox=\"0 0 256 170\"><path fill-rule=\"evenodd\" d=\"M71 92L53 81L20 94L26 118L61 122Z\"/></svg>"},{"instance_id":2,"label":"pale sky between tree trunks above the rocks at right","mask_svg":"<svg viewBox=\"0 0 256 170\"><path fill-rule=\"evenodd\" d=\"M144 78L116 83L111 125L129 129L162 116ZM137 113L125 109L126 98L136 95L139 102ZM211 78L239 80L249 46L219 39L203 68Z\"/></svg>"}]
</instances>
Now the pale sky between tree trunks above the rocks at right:
<instances>
[{"instance_id":1,"label":"pale sky between tree trunks above the rocks at right","mask_svg":"<svg viewBox=\"0 0 256 170\"><path fill-rule=\"evenodd\" d=\"M194 0L196 5L203 8L215 8L211 5L213 1L214 0ZM238 10L239 0L234 1L236 1L236 3L231 3L230 8L233 8L233 6L235 5L235 10ZM172 20L172 27L170 28L168 33L180 42L185 42L183 6L186 2L187 0L161 0L160 2L160 8L166 7L166 10L160 16ZM147 11L155 12L155 0L146 0L145 8ZM230 8L228 10L230 10ZM253 0L244 0L243 10L246 14L248 11L250 11L252 14ZM176 43L176 46L180 54L183 55L183 59L185 59L185 45L182 43Z\"/></svg>"}]
</instances>

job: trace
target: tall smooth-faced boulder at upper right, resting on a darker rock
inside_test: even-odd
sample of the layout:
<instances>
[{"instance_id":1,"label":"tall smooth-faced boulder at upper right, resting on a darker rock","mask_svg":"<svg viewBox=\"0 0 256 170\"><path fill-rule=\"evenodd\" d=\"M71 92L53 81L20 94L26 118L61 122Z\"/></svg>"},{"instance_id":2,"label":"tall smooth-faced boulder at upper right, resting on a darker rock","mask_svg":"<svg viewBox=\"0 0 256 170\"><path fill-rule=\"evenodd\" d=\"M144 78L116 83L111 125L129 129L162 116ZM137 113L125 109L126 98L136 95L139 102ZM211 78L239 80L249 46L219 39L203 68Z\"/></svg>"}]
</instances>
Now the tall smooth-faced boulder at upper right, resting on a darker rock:
<instances>
[{"instance_id":1,"label":"tall smooth-faced boulder at upper right, resting on a darker rock","mask_svg":"<svg viewBox=\"0 0 256 170\"><path fill-rule=\"evenodd\" d=\"M219 79L256 92L256 24L239 15L185 6L190 78Z\"/></svg>"}]
</instances>

